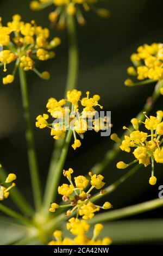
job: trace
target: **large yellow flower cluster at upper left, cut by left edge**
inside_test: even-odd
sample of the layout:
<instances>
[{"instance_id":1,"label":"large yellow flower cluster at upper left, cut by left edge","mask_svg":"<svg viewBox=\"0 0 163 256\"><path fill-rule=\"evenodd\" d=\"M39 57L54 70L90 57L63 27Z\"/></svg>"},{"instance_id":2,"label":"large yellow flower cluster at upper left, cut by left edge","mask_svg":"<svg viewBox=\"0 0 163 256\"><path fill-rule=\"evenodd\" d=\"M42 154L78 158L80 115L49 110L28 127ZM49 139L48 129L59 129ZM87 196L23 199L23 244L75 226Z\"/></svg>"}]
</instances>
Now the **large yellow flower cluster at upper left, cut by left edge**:
<instances>
[{"instance_id":1,"label":"large yellow flower cluster at upper left, cut by left edge","mask_svg":"<svg viewBox=\"0 0 163 256\"><path fill-rule=\"evenodd\" d=\"M18 66L25 71L33 70L41 78L47 80L50 75L47 71L40 73L35 68L35 60L47 60L55 56L53 48L60 44L59 38L48 41L49 29L37 26L35 21L23 22L21 16L16 14L7 26L2 25L0 18L0 65L7 71L7 64L15 62L12 74L3 78L3 84L12 83Z\"/></svg>"}]
</instances>

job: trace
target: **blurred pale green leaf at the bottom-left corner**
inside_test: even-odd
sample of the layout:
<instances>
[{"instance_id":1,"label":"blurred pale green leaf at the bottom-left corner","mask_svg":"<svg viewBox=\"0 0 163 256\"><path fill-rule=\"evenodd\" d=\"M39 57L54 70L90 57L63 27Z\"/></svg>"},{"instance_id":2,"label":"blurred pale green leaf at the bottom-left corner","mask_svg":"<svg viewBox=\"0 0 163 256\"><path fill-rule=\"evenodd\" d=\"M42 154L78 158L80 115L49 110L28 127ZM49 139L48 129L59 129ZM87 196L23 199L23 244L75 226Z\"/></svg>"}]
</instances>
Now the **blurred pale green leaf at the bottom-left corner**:
<instances>
[{"instance_id":1,"label":"blurred pale green leaf at the bottom-left corner","mask_svg":"<svg viewBox=\"0 0 163 256\"><path fill-rule=\"evenodd\" d=\"M27 230L11 218L0 218L0 245L11 245L26 236Z\"/></svg>"}]
</instances>

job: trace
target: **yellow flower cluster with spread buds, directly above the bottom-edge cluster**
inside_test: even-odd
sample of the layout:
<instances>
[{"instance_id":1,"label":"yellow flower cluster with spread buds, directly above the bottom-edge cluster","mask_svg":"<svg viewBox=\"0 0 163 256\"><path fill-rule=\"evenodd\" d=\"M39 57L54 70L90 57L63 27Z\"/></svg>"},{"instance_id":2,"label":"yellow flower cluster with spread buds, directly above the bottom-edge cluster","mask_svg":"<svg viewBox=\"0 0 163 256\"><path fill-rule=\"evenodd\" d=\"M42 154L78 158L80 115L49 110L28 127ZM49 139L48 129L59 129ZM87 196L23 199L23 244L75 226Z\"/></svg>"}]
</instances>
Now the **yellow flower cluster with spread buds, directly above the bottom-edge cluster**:
<instances>
[{"instance_id":1,"label":"yellow flower cluster with spread buds, directly above the bottom-edge cluster","mask_svg":"<svg viewBox=\"0 0 163 256\"><path fill-rule=\"evenodd\" d=\"M90 172L89 175L91 180L87 179L85 176L79 175L74 178L73 183L71 178L72 173L72 168L64 170L63 174L70 182L70 185L62 184L58 187L58 193L62 195L63 202L67 202L68 204L58 205L56 203L52 203L51 208L49 209L50 212L55 212L58 208L72 207L71 210L67 211L67 217L76 212L77 218L78 216L82 216L83 220L89 220L95 215L95 212L100 210L100 208L105 210L112 208L112 205L109 202L105 202L103 206L93 204L95 199L98 199L105 193L105 191L101 190L105 185L103 182L104 177L102 175L92 175ZM87 192L85 192L84 190L89 183L91 184L91 187ZM93 188L101 191L97 195L92 196L90 193Z\"/></svg>"}]
</instances>

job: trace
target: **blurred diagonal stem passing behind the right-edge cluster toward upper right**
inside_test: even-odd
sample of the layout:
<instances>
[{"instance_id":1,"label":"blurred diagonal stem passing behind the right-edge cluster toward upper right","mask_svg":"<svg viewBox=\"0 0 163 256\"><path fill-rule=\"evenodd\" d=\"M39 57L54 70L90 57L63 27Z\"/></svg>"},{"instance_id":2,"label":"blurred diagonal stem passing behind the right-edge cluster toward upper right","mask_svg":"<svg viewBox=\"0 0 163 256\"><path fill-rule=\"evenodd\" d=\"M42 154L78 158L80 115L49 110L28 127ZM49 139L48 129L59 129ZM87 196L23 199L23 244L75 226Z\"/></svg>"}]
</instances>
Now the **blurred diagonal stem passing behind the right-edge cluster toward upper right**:
<instances>
[{"instance_id":1,"label":"blurred diagonal stem passing behind the right-edge cluster toward upper right","mask_svg":"<svg viewBox=\"0 0 163 256\"><path fill-rule=\"evenodd\" d=\"M139 114L137 114L137 119L138 120L144 120L145 119L145 115L143 114L143 112L147 112L149 113L152 108L154 103L156 102L156 100L158 99L158 97L160 96L160 88L162 87L162 81L158 82L155 86L154 92L152 94L151 97L148 97L145 106L143 107L143 109L139 112ZM129 126L130 130L133 130L133 126ZM124 138L124 135L127 134L127 131L123 133L122 135L122 139ZM106 152L104 159L99 162L96 163L95 166L92 167L91 172L92 173L102 173L103 170L109 165L109 163L112 162L112 160L115 159L115 157L117 156L117 154L120 152L120 143L115 143L114 147L109 150L108 152Z\"/></svg>"}]
</instances>

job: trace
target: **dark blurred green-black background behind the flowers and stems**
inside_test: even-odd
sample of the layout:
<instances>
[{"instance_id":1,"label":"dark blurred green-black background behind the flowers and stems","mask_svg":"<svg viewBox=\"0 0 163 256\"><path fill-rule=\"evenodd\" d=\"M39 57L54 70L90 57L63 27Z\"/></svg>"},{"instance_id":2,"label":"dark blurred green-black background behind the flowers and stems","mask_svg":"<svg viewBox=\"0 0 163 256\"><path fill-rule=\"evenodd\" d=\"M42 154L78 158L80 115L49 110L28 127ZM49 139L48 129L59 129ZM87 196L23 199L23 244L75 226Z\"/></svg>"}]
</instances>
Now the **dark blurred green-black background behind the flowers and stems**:
<instances>
[{"instance_id":1,"label":"dark blurred green-black background behind the flowers and stems","mask_svg":"<svg viewBox=\"0 0 163 256\"><path fill-rule=\"evenodd\" d=\"M29 9L29 3L30 0L1 0L0 16L3 18L3 25L11 20L12 15L18 13L21 14L24 21L35 19L37 25L49 27L47 17L53 7L35 13ZM147 97L152 94L154 89L154 84L126 88L123 82L128 77L126 69L131 64L130 55L136 51L137 46L145 43L162 42L163 2L161 0L106 0L100 5L111 11L110 19L101 19L90 12L85 15L86 26L78 27L80 52L78 88L83 93L90 90L92 94L101 95L101 104L104 109L111 111L112 123L114 124L112 131L121 135L123 125L129 124L130 119L140 111ZM47 62L37 62L36 64L36 68L40 71L47 70L51 72L51 80L43 81L33 72L28 72L27 74L30 109L42 187L45 185L54 141L47 130L36 129L35 118L37 115L46 112L46 102L49 97L53 96L61 99L64 95L68 60L66 31L54 29L52 36L59 36L62 40L61 46L56 49L55 59ZM3 70L1 69L1 77L3 75ZM158 109L162 109L162 97L154 106L153 114ZM17 174L18 188L31 201L32 189L28 173L18 76L15 82L8 86L4 86L2 80L0 82L0 120L0 162L8 171ZM100 134L94 134L91 131L87 132L82 147L78 151L70 148L65 168L72 167L76 173L85 174L89 172L97 161L103 159L106 150L111 148L112 145L113 143L109 137L100 137ZM121 153L118 155L118 158L112 162L111 166L105 169L106 185L111 184L121 175L128 172L126 169L116 169L116 162L120 160L130 162L132 159L131 154ZM155 166L155 175L158 178L158 182L154 187L148 184L150 175L150 167L141 168L125 184L118 187L116 192L110 194L107 199L114 205L114 209L157 198L158 187L163 184L161 164ZM9 206L14 207L10 201L7 203ZM33 204L33 202L31 203ZM158 209L132 217L130 221L135 218L143 219L144 221L141 222L140 226L144 227L146 225L148 229L145 234L152 234L153 226L147 225L147 218L151 220L151 218L159 219L161 217L162 209ZM155 221L153 220L153 222ZM123 234L124 227L130 227L131 231L136 227L137 229L133 231L133 234L136 230L139 232L139 225L135 224L133 226L131 223L130 225L129 222L125 224L123 221L111 223L108 234L110 236L114 234L117 243L130 242L130 235L128 235L128 240L127 238L122 239L122 235L120 239L117 233L121 230ZM149 221L149 223L152 223L152 221ZM158 227L163 227L163 221L159 222ZM145 235L143 236L144 240ZM157 240L157 237L155 237L155 240Z\"/></svg>"}]
</instances>

